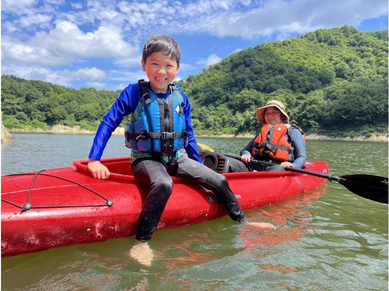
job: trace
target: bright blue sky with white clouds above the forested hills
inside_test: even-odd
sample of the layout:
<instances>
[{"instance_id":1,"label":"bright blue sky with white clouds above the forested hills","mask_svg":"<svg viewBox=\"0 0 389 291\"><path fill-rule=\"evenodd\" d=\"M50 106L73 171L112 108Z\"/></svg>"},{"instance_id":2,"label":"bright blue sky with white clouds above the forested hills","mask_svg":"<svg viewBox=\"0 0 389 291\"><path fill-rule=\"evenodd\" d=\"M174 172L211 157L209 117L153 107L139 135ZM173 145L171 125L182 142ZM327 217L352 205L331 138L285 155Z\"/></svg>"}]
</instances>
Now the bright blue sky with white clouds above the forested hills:
<instances>
[{"instance_id":1,"label":"bright blue sky with white clouds above the forested hills","mask_svg":"<svg viewBox=\"0 0 389 291\"><path fill-rule=\"evenodd\" d=\"M123 89L146 75L144 41L173 36L177 78L241 49L319 28L388 28L387 0L2 0L1 74L79 89Z\"/></svg>"}]
</instances>

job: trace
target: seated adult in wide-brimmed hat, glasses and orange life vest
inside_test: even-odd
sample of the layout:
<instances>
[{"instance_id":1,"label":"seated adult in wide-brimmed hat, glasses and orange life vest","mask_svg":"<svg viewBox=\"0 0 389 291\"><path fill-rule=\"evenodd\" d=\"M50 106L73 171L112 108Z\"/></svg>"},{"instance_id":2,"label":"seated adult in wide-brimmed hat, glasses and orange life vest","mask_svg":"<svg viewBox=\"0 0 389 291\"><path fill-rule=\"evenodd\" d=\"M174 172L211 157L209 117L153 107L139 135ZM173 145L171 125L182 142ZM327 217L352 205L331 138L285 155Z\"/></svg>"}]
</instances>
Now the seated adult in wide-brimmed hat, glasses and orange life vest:
<instances>
[{"instance_id":1,"label":"seated adult in wide-brimmed hat, glasses and orange life vest","mask_svg":"<svg viewBox=\"0 0 389 291\"><path fill-rule=\"evenodd\" d=\"M306 148L300 127L289 124L285 107L278 100L270 100L256 111L263 124L261 132L240 151L241 161L229 158L230 172L285 171L285 167L301 168L306 160ZM272 166L250 163L254 158Z\"/></svg>"}]
</instances>

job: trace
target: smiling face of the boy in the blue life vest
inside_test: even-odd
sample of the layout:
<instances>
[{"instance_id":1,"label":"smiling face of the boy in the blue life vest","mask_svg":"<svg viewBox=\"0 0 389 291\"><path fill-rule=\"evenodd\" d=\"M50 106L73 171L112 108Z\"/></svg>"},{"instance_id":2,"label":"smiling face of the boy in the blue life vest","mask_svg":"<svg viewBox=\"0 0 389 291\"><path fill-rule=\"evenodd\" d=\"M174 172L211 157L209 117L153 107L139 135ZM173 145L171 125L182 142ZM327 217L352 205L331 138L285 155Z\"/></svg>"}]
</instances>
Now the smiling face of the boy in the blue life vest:
<instances>
[{"instance_id":1,"label":"smiling face of the boy in the blue life vest","mask_svg":"<svg viewBox=\"0 0 389 291\"><path fill-rule=\"evenodd\" d=\"M177 62L172 59L171 55L153 53L147 57L146 63L143 59L141 63L143 71L150 80L151 90L155 93L166 93L168 85L178 74Z\"/></svg>"}]
</instances>

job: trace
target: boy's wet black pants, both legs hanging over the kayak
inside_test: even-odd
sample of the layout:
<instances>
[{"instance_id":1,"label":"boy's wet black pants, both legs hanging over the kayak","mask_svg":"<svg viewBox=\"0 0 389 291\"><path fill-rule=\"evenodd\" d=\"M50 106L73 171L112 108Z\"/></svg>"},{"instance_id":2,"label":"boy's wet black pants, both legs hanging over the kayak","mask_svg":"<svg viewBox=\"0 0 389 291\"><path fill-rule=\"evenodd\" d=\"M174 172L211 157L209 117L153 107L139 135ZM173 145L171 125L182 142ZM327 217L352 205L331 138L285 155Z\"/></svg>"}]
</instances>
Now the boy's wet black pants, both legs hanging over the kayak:
<instances>
[{"instance_id":1,"label":"boy's wet black pants, both legs hanging over the kayak","mask_svg":"<svg viewBox=\"0 0 389 291\"><path fill-rule=\"evenodd\" d=\"M142 206L136 235L136 239L148 241L158 226L167 200L172 194L173 181L166 171L165 164L156 159L137 159L131 164L131 168L134 176L150 185L149 194ZM170 174L211 190L231 219L246 221L226 177L187 156L178 158Z\"/></svg>"}]
</instances>

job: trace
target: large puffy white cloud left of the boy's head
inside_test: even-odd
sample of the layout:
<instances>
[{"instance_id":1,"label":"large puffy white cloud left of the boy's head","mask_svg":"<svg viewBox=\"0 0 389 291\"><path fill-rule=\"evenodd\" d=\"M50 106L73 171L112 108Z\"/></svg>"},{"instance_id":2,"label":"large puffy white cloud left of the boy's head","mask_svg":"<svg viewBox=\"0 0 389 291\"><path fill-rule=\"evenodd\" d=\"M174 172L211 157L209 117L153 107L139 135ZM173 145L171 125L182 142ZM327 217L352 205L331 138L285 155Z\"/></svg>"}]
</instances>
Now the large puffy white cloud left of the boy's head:
<instances>
[{"instance_id":1,"label":"large puffy white cloud left of the boy's head","mask_svg":"<svg viewBox=\"0 0 389 291\"><path fill-rule=\"evenodd\" d=\"M37 15L30 20L44 23L50 19L50 16ZM30 24L26 20L23 25ZM8 32L15 30L10 27ZM28 41L18 41L12 35L4 36L2 59L25 64L65 65L78 61L80 57L120 58L139 54L140 48L128 44L123 37L121 28L114 25L100 26L95 31L84 33L70 21L59 21L52 31L37 32Z\"/></svg>"}]
</instances>

